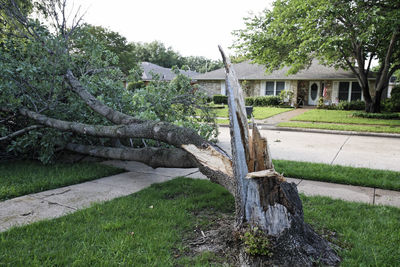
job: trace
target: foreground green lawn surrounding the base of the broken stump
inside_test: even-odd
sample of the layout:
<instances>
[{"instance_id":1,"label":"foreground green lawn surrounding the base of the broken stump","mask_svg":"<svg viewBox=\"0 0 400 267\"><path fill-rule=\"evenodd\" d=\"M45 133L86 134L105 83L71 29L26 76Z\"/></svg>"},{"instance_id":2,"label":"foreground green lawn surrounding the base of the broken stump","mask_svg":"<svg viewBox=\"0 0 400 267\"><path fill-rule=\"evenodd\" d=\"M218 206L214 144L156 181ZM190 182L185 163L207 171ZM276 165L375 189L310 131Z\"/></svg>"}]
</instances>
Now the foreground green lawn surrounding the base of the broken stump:
<instances>
[{"instance_id":1,"label":"foreground green lawn surrounding the base of the broken stump","mask_svg":"<svg viewBox=\"0 0 400 267\"><path fill-rule=\"evenodd\" d=\"M396 266L400 210L302 196L305 220L331 241L343 266ZM185 256L182 240L212 222L202 213L233 214L234 201L205 180L178 178L55 220L0 233L0 265L218 266L221 255ZM197 214L197 215L196 215ZM210 262L211 260L211 262Z\"/></svg>"}]
</instances>

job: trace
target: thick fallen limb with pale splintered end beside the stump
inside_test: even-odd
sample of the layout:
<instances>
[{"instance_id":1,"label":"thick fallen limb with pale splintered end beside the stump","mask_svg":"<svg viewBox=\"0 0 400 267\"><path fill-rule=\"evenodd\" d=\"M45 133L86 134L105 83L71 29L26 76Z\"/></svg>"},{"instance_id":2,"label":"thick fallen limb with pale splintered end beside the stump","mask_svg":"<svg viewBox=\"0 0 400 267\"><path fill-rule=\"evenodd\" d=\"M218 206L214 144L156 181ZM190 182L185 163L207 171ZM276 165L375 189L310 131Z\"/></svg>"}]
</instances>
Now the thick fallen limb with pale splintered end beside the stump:
<instances>
[{"instance_id":1,"label":"thick fallen limb with pale splintered end beside the stump","mask_svg":"<svg viewBox=\"0 0 400 267\"><path fill-rule=\"evenodd\" d=\"M40 124L61 131L95 137L147 138L182 148L196 159L200 171L212 182L222 185L232 194L236 190L230 157L225 151L207 142L192 129L154 121L115 126L89 125L49 118L27 109L20 109L19 113Z\"/></svg>"}]
</instances>

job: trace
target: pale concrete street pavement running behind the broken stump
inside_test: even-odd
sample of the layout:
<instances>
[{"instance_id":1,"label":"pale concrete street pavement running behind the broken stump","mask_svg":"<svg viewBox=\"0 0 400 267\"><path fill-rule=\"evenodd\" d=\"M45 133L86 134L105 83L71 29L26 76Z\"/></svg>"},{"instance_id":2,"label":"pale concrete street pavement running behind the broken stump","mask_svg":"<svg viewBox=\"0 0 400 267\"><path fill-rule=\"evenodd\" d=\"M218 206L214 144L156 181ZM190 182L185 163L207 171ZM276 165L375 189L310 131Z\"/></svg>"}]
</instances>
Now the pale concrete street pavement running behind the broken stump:
<instances>
[{"instance_id":1,"label":"pale concrete street pavement running behind the broken stump","mask_svg":"<svg viewBox=\"0 0 400 267\"><path fill-rule=\"evenodd\" d=\"M220 127L222 148L230 151L229 128ZM400 138L261 130L272 158L400 171Z\"/></svg>"}]
</instances>

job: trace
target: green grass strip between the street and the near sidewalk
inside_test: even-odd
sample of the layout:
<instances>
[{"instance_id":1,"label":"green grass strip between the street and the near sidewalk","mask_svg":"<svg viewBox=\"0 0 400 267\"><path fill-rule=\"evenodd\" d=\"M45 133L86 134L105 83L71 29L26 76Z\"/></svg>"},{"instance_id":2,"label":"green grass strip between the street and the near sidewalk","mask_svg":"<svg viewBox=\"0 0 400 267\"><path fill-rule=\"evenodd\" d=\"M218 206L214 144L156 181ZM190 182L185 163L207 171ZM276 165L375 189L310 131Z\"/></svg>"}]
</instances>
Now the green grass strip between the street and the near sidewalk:
<instances>
[{"instance_id":1,"label":"green grass strip between the street and the near sidewalk","mask_svg":"<svg viewBox=\"0 0 400 267\"><path fill-rule=\"evenodd\" d=\"M273 163L286 177L400 191L400 172L290 160Z\"/></svg>"}]
</instances>

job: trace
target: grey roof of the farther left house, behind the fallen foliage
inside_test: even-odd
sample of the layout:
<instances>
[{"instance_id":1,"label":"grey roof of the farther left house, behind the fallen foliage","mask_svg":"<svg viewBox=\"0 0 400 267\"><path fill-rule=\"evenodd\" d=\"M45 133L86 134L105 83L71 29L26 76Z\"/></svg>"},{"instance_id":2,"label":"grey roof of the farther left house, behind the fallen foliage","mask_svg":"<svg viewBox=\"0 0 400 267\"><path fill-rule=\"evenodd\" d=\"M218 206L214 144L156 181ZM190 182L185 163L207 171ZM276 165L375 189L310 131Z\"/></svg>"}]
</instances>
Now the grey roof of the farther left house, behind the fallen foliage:
<instances>
[{"instance_id":1,"label":"grey roof of the farther left house, behind the fallen foliage","mask_svg":"<svg viewBox=\"0 0 400 267\"><path fill-rule=\"evenodd\" d=\"M159 78L163 81L171 81L176 77L176 74L171 69L164 68L150 62L142 62L140 67L143 70L143 81L153 80L154 74L159 75ZM179 70L179 72L192 79L199 75L199 73L195 71Z\"/></svg>"}]
</instances>

